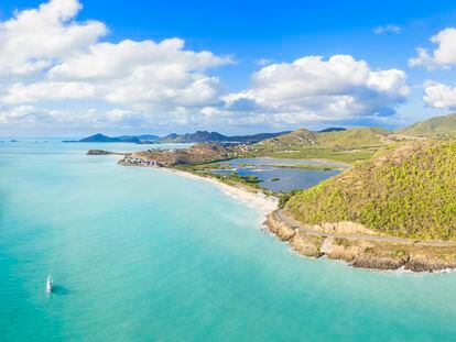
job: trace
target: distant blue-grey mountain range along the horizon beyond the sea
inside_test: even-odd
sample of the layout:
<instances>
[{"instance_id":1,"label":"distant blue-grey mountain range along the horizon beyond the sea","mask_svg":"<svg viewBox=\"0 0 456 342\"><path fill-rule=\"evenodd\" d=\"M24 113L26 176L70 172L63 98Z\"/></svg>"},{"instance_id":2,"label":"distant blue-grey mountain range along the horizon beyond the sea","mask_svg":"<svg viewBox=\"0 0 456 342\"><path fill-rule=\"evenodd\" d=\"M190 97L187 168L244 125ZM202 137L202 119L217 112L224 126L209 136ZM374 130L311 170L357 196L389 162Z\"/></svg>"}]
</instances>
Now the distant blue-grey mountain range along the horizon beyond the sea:
<instances>
[{"instance_id":1,"label":"distant blue-grey mountain range along the horizon beyond the sea","mask_svg":"<svg viewBox=\"0 0 456 342\"><path fill-rule=\"evenodd\" d=\"M196 131L195 133L177 134L171 133L166 136L160 137L153 134L143 135L121 135L121 136L108 136L101 133L84 137L78 141L65 141L65 142L79 142L79 143L220 143L220 142L239 142L239 143L257 143L264 139L279 136L287 132L278 133L259 133L253 135L236 135L227 136L217 132Z\"/></svg>"}]
</instances>

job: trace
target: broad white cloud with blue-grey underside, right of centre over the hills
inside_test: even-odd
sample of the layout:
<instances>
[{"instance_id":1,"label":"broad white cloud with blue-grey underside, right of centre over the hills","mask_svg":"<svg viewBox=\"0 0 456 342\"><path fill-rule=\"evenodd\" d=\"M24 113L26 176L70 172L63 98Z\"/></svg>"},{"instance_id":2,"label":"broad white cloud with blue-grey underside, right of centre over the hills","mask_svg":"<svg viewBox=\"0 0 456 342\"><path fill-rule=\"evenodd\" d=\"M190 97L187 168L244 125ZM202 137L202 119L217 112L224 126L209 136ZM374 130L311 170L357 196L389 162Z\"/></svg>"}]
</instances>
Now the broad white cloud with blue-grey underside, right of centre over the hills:
<instances>
[{"instance_id":1,"label":"broad white cloud with blue-grey underside, right of centre over the hills","mask_svg":"<svg viewBox=\"0 0 456 342\"><path fill-rule=\"evenodd\" d=\"M371 70L349 55L307 56L261 68L249 89L222 98L222 110L246 122L337 121L391 115L409 92L402 70Z\"/></svg>"}]
</instances>

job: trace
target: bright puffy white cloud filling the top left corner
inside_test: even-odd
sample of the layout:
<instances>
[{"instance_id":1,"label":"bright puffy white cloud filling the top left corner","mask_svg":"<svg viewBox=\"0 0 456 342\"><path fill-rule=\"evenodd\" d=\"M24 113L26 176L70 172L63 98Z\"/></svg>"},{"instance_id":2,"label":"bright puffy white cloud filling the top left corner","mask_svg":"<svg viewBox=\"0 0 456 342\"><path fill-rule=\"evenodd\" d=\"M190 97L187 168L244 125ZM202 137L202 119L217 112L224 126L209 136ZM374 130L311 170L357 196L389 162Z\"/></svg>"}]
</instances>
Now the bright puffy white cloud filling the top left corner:
<instances>
[{"instance_id":1,"label":"bright puffy white cloud filling the top left corner","mask_svg":"<svg viewBox=\"0 0 456 342\"><path fill-rule=\"evenodd\" d=\"M98 21L73 22L77 0L53 0L0 22L0 75L29 75L85 51L107 33Z\"/></svg>"}]
</instances>

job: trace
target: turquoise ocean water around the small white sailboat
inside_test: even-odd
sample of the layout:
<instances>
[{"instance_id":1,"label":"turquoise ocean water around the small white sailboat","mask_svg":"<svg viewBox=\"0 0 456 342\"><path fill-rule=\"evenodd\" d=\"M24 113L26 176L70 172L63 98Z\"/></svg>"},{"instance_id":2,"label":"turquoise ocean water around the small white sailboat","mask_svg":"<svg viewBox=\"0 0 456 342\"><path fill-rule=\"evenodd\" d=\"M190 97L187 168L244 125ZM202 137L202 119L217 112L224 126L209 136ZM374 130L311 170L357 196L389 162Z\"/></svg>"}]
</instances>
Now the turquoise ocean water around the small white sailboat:
<instances>
[{"instance_id":1,"label":"turquoise ocean water around the small white sailboat","mask_svg":"<svg viewBox=\"0 0 456 342\"><path fill-rule=\"evenodd\" d=\"M0 341L455 339L456 274L300 257L209 183L89 147L0 143Z\"/></svg>"}]
</instances>

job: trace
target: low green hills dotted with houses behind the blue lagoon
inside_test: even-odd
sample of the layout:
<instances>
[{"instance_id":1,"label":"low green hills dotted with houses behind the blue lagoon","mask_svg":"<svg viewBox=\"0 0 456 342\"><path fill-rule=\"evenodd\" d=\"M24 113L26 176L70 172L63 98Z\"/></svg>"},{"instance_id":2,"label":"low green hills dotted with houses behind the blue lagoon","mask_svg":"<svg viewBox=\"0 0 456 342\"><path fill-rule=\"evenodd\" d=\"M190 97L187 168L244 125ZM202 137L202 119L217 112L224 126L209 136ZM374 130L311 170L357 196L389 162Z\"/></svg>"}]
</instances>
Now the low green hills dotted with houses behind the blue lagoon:
<instances>
[{"instance_id":1,"label":"low green hills dotted with houses behind the blue lagoon","mask_svg":"<svg viewBox=\"0 0 456 342\"><path fill-rule=\"evenodd\" d=\"M206 134L207 132L197 133L197 140L209 139ZM210 139L220 139L216 133L208 134L211 136ZM245 137L259 139L260 136L264 135L246 135ZM232 136L230 139L239 137ZM351 164L371 157L380 147L397 141L397 134L376 128L330 129L325 132L300 129L253 144L199 143L191 148L178 148L175 151L150 150L138 155L154 159L165 166L200 164L230 157L254 156L321 158Z\"/></svg>"}]
</instances>

